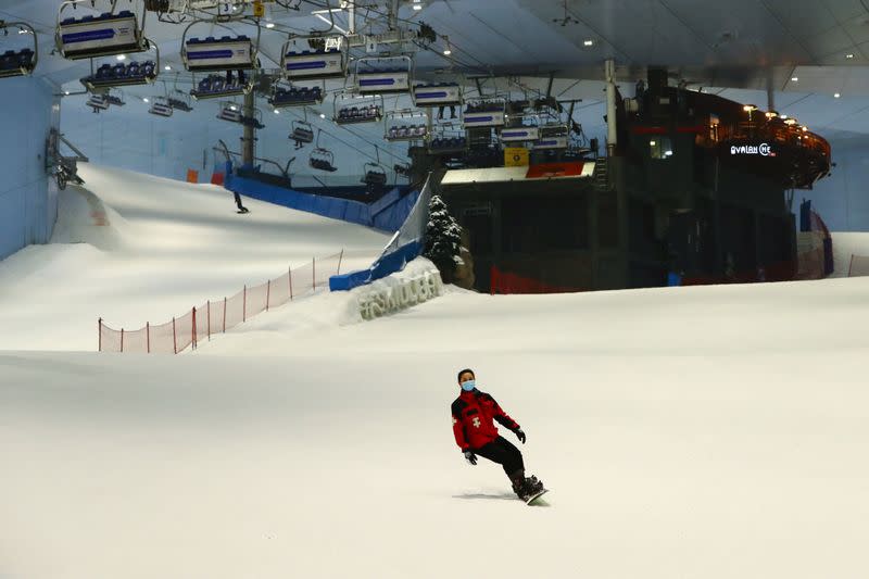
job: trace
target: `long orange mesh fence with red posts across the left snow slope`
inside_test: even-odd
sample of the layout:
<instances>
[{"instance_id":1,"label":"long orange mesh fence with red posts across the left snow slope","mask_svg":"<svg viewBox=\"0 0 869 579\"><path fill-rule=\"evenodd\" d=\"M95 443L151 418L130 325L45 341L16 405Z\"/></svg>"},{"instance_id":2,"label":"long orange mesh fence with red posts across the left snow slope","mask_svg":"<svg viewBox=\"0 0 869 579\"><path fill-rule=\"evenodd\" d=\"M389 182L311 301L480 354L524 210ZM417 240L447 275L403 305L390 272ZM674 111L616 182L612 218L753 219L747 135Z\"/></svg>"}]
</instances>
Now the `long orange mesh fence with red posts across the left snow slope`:
<instances>
[{"instance_id":1,"label":"long orange mesh fence with red posts across the left snow slope","mask_svg":"<svg viewBox=\"0 0 869 579\"><path fill-rule=\"evenodd\" d=\"M287 269L259 286L244 286L232 297L207 301L184 315L160 325L146 324L137 330L116 330L99 319L100 352L177 354L200 340L223 333L251 317L282 305L317 288L328 287L329 277L341 273L343 250L327 257Z\"/></svg>"}]
</instances>

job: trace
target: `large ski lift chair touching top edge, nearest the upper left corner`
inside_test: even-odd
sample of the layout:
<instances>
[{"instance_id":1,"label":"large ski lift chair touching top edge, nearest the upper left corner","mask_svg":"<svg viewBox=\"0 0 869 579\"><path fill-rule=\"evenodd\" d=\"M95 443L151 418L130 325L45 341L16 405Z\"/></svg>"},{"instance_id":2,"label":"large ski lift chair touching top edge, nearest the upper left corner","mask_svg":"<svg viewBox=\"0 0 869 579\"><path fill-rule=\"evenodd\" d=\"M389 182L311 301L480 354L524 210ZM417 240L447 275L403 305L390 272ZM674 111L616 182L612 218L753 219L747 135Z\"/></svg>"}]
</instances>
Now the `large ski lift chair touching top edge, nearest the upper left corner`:
<instances>
[{"instance_id":1,"label":"large ski lift chair touching top edge, nearest the upper left corner","mask_svg":"<svg viewBox=\"0 0 869 579\"><path fill-rule=\"evenodd\" d=\"M63 17L65 9L70 7L75 9L77 4L88 1L90 0L67 0L58 9L54 42L64 59L92 59L148 50L150 42L143 33L147 14L144 5L142 5L141 21L129 10L122 10L117 14L104 12L79 18ZM112 11L115 4L116 2L112 2Z\"/></svg>"}]
</instances>

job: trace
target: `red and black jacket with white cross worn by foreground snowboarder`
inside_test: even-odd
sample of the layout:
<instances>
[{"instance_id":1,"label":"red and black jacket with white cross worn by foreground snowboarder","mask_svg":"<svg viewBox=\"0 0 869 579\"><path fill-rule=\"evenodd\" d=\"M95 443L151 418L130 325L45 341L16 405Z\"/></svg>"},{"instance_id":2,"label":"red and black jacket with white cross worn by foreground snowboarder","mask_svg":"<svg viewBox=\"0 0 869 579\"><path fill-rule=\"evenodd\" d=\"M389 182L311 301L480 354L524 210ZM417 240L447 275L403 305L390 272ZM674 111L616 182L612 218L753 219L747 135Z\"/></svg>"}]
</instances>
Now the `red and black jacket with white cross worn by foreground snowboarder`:
<instances>
[{"instance_id":1,"label":"red and black jacket with white cross worn by foreground snowboarder","mask_svg":"<svg viewBox=\"0 0 869 579\"><path fill-rule=\"evenodd\" d=\"M498 438L498 428L492 423L493 419L509 430L519 428L516 420L501 410L495 399L479 390L470 392L463 390L453 402L452 411L455 443L463 451L479 449Z\"/></svg>"}]
</instances>

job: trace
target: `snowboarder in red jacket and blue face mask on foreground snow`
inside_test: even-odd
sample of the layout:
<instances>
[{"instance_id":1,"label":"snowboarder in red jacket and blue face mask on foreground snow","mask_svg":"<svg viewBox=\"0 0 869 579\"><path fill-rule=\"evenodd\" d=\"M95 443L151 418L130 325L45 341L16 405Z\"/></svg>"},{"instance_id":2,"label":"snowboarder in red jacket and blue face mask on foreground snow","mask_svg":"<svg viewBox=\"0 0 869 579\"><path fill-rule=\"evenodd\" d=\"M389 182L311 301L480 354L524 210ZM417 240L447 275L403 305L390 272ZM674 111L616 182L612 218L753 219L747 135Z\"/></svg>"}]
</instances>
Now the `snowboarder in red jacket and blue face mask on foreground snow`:
<instances>
[{"instance_id":1,"label":"snowboarder in red jacket and blue face mask on foreground snow","mask_svg":"<svg viewBox=\"0 0 869 579\"><path fill-rule=\"evenodd\" d=\"M516 438L525 444L525 432L519 425L507 416L491 395L477 389L474 370L465 368L458 373L462 392L453 402L453 435L455 442L471 465L477 464L477 455L500 464L513 483L513 491L522 501L543 491L543 483L531 476L525 477L522 453L507 439L499 436L492 420L498 420L504 428L512 430Z\"/></svg>"}]
</instances>

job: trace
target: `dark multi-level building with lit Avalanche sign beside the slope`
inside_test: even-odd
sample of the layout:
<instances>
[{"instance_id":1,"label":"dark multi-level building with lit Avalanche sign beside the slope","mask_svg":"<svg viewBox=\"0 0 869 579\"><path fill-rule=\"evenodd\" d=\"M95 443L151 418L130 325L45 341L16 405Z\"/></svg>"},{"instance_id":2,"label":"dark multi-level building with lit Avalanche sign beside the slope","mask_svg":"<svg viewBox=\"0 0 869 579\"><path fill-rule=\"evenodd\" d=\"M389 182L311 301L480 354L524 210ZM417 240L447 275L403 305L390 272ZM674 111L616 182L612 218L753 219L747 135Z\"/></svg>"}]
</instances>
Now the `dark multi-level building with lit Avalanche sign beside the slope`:
<instances>
[{"instance_id":1,"label":"dark multi-level building with lit Avalanche sign beside the slope","mask_svg":"<svg viewBox=\"0 0 869 579\"><path fill-rule=\"evenodd\" d=\"M828 174L827 141L657 71L616 110L605 158L445 173L478 290L493 272L561 291L794 279L793 190Z\"/></svg>"}]
</instances>

